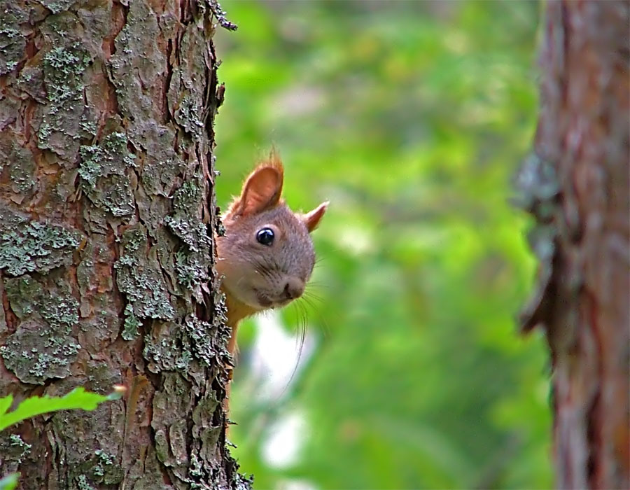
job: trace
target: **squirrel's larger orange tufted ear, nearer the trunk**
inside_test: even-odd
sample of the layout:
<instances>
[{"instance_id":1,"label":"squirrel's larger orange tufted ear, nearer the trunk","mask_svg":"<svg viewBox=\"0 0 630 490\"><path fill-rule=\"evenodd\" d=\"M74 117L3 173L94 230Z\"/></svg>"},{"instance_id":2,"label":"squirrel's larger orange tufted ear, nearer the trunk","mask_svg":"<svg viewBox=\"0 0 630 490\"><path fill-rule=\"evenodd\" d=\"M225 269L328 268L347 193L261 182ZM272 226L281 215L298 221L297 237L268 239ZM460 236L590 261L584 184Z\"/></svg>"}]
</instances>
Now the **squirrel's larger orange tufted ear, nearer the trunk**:
<instances>
[{"instance_id":1,"label":"squirrel's larger orange tufted ear, nearer the trunk","mask_svg":"<svg viewBox=\"0 0 630 490\"><path fill-rule=\"evenodd\" d=\"M230 206L230 213L246 216L274 207L280 201L282 181L281 163L260 165L247 177L241 196Z\"/></svg>"}]
</instances>

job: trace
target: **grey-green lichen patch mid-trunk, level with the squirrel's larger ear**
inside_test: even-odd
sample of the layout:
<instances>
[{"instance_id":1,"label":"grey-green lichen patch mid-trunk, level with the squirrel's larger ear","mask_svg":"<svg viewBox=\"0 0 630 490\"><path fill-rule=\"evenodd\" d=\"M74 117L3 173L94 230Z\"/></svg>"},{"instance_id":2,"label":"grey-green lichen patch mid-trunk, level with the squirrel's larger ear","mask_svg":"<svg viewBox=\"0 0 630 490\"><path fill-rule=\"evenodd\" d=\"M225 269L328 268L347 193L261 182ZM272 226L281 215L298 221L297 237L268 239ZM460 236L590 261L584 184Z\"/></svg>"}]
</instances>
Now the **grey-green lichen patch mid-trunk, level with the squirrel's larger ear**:
<instances>
[{"instance_id":1,"label":"grey-green lichen patch mid-trunk, level with the squirrel's larger ear","mask_svg":"<svg viewBox=\"0 0 630 490\"><path fill-rule=\"evenodd\" d=\"M127 149L124 133L108 134L100 144L80 147L78 174L87 197L114 216L134 212L134 196L125 172L135 167L135 155Z\"/></svg>"}]
</instances>

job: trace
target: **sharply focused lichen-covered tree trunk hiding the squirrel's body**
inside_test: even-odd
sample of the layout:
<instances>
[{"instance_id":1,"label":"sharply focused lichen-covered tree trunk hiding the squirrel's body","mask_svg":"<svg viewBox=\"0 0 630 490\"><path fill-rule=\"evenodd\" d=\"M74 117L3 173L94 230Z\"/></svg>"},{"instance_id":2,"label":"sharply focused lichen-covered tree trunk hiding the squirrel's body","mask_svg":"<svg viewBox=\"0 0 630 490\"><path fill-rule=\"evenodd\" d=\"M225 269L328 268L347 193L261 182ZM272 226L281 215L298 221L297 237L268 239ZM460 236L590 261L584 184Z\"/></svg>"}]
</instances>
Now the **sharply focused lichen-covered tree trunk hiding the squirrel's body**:
<instances>
[{"instance_id":1,"label":"sharply focused lichen-covered tree trunk hiding the squirrel's body","mask_svg":"<svg viewBox=\"0 0 630 490\"><path fill-rule=\"evenodd\" d=\"M0 437L23 489L246 487L225 449L209 0L0 0Z\"/></svg>"}]
</instances>

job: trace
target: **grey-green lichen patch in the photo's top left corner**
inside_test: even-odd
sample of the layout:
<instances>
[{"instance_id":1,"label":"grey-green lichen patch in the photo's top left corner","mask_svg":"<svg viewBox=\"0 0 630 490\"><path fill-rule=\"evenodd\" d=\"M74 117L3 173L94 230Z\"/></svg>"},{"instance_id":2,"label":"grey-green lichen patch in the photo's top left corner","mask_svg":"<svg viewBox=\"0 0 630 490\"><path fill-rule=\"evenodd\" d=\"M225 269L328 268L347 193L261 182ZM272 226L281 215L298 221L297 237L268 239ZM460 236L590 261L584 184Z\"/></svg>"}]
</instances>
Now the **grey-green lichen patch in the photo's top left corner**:
<instances>
[{"instance_id":1,"label":"grey-green lichen patch in the photo's top left corner","mask_svg":"<svg viewBox=\"0 0 630 490\"><path fill-rule=\"evenodd\" d=\"M18 2L0 1L0 75L13 71L24 56L26 38L20 24L28 20L28 13Z\"/></svg>"}]
</instances>

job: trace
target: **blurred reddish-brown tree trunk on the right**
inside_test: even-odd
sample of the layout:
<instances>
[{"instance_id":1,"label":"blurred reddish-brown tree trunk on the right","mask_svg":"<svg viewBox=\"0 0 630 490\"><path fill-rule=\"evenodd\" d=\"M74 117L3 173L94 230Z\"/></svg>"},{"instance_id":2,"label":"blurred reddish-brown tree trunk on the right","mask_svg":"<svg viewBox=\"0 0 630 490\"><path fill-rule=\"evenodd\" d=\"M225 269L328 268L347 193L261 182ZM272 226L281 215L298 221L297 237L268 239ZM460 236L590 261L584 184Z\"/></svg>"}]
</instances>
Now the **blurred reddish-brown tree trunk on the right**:
<instances>
[{"instance_id":1,"label":"blurred reddish-brown tree trunk on the right","mask_svg":"<svg viewBox=\"0 0 630 490\"><path fill-rule=\"evenodd\" d=\"M630 487L629 26L628 1L547 2L536 156L519 176L541 259L523 326L547 332L563 489Z\"/></svg>"}]
</instances>

